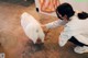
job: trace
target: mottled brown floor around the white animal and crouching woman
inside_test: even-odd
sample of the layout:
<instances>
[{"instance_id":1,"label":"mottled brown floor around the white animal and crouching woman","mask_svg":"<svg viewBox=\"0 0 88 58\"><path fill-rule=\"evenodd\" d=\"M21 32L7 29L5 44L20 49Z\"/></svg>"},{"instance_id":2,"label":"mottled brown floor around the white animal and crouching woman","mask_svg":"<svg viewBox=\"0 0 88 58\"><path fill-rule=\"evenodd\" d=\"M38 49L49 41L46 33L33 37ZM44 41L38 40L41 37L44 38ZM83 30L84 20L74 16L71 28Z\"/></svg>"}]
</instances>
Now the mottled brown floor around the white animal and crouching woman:
<instances>
[{"instance_id":1,"label":"mottled brown floor around the white animal and crouching woman","mask_svg":"<svg viewBox=\"0 0 88 58\"><path fill-rule=\"evenodd\" d=\"M72 43L64 47L58 46L58 35L62 27L51 30L43 46L35 46L25 36L21 24L20 15L23 12L32 14L42 24L55 21L56 18L38 14L35 5L24 7L19 3L0 1L0 53L6 58L88 58L88 54L76 54Z\"/></svg>"}]
</instances>

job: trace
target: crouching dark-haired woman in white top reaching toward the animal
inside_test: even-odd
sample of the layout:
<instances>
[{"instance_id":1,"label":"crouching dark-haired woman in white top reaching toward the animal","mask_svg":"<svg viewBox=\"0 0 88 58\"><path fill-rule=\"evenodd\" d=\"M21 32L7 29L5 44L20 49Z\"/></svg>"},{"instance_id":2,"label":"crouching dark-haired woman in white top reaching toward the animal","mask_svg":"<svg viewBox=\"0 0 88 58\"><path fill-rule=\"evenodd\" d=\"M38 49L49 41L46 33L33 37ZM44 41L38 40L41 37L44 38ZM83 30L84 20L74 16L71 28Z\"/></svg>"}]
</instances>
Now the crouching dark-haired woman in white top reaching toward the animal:
<instances>
[{"instance_id":1,"label":"crouching dark-haired woman in white top reaching toward the animal","mask_svg":"<svg viewBox=\"0 0 88 58\"><path fill-rule=\"evenodd\" d=\"M64 31L59 35L59 46L64 46L68 40L77 45L74 49L78 54L88 53L88 13L76 12L69 3L62 3L56 9L58 19L55 22L42 25L43 28L53 28L64 25Z\"/></svg>"}]
</instances>

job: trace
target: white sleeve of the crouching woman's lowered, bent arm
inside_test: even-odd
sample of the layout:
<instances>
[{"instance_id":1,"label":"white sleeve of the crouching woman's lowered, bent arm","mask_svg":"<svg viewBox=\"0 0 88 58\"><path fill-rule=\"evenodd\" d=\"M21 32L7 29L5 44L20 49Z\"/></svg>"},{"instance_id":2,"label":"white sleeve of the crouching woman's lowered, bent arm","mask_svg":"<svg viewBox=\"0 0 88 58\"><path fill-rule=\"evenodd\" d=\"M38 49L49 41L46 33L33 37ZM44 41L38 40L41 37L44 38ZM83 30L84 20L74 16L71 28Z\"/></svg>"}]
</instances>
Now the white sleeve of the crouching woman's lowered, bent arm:
<instances>
[{"instance_id":1,"label":"white sleeve of the crouching woman's lowered, bent arm","mask_svg":"<svg viewBox=\"0 0 88 58\"><path fill-rule=\"evenodd\" d=\"M66 26L58 37L59 46L63 47L67 43L67 40L72 37L72 35L73 32L70 31L70 27Z\"/></svg>"}]
</instances>

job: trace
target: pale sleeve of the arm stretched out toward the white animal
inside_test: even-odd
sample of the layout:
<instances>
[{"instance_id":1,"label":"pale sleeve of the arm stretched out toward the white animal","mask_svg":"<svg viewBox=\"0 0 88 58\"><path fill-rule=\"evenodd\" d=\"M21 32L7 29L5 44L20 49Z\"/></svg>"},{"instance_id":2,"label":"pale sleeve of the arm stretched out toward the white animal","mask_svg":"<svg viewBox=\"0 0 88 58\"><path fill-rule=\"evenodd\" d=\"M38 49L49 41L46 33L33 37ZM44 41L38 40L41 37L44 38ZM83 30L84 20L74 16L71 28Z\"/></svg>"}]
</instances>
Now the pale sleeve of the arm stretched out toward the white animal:
<instances>
[{"instance_id":1,"label":"pale sleeve of the arm stretched out toward the white animal","mask_svg":"<svg viewBox=\"0 0 88 58\"><path fill-rule=\"evenodd\" d=\"M54 27L57 27L57 26L61 26L61 25L64 25L66 24L66 22L63 20L57 20L57 21L54 21L52 23L47 23L45 24L46 28L54 28Z\"/></svg>"}]
</instances>

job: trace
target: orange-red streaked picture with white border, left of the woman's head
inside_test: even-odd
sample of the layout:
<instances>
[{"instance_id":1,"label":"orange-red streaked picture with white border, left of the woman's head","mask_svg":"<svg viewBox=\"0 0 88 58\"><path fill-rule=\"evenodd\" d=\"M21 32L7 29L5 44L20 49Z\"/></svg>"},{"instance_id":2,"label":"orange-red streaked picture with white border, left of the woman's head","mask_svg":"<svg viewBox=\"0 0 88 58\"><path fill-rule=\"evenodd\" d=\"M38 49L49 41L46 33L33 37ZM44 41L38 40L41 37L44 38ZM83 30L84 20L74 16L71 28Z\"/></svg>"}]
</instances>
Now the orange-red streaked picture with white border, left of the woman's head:
<instances>
[{"instance_id":1,"label":"orange-red streaked picture with white border, left of the woman's head","mask_svg":"<svg viewBox=\"0 0 88 58\"><path fill-rule=\"evenodd\" d=\"M36 11L43 14L56 16L55 10L59 0L35 0Z\"/></svg>"}]
</instances>

